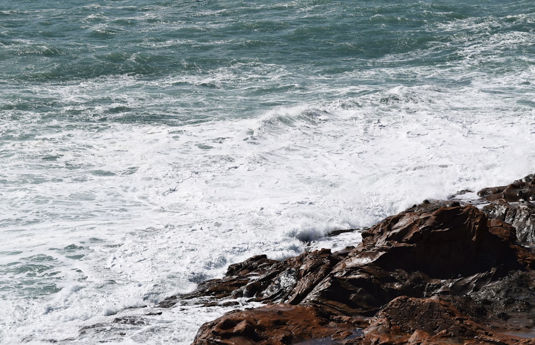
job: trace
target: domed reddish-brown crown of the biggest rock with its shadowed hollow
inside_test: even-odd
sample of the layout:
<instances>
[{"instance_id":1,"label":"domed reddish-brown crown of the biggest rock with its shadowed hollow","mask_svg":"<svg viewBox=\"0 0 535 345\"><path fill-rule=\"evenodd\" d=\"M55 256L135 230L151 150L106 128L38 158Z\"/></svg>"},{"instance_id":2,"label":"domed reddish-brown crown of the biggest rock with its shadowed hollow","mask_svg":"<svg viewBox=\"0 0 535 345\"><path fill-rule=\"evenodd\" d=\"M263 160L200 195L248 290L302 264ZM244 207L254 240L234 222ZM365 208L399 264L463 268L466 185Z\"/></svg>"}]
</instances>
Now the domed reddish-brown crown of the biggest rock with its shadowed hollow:
<instances>
[{"instance_id":1,"label":"domed reddish-brown crown of the biggest rock with its shadowed hollow","mask_svg":"<svg viewBox=\"0 0 535 345\"><path fill-rule=\"evenodd\" d=\"M378 256L384 269L420 271L447 279L488 271L496 264L494 253L485 253L482 246L507 246L488 231L486 216L473 206L440 207L412 211L388 217L362 234L362 251L353 251L346 261L360 264L361 257ZM493 242L493 243L487 243ZM496 248L497 249L497 248ZM353 258L353 254L355 258ZM514 253L504 253L514 260ZM347 264L345 265L347 266Z\"/></svg>"}]
</instances>

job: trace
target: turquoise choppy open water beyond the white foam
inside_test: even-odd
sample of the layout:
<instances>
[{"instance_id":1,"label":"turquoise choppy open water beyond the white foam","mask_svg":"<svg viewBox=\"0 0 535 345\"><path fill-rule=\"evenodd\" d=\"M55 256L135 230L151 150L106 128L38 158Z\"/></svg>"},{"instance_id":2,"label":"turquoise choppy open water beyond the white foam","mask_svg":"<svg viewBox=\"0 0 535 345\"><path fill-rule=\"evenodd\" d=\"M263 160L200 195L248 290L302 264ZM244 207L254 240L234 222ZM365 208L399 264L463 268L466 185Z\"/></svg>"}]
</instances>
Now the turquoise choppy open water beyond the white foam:
<instances>
[{"instance_id":1,"label":"turquoise choppy open water beyond the white foam","mask_svg":"<svg viewBox=\"0 0 535 345\"><path fill-rule=\"evenodd\" d=\"M14 121L182 124L358 97L352 86L460 87L465 73L532 66L532 13L527 1L5 1L2 110ZM69 87L65 99L58 88Z\"/></svg>"}]
</instances>

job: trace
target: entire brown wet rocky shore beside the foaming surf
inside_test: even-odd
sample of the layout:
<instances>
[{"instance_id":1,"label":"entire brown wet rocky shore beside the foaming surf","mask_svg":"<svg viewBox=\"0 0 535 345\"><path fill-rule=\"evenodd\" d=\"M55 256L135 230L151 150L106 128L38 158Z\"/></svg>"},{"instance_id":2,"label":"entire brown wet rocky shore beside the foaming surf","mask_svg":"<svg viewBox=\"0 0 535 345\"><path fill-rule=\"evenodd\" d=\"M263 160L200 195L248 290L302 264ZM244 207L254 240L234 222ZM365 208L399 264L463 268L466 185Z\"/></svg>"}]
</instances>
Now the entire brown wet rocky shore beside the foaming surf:
<instances>
[{"instance_id":1,"label":"entire brown wet rocky shore beside the foaming surf","mask_svg":"<svg viewBox=\"0 0 535 345\"><path fill-rule=\"evenodd\" d=\"M535 344L535 175L478 196L426 200L337 252L249 258L159 306L265 303L194 345Z\"/></svg>"}]
</instances>

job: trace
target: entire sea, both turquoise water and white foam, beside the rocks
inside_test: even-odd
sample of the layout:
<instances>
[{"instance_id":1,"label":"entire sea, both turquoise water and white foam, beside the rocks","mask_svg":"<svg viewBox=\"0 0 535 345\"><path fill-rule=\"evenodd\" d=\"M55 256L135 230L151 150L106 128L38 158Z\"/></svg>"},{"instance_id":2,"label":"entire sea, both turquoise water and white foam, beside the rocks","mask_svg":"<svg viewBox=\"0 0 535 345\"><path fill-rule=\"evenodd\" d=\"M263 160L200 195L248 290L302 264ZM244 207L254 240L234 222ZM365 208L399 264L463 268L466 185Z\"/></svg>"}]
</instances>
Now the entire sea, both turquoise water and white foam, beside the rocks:
<instances>
[{"instance_id":1,"label":"entire sea, both turquoise water and white foam, beside the rocks","mask_svg":"<svg viewBox=\"0 0 535 345\"><path fill-rule=\"evenodd\" d=\"M534 83L527 0L3 0L0 343L189 344L230 264L535 172Z\"/></svg>"}]
</instances>

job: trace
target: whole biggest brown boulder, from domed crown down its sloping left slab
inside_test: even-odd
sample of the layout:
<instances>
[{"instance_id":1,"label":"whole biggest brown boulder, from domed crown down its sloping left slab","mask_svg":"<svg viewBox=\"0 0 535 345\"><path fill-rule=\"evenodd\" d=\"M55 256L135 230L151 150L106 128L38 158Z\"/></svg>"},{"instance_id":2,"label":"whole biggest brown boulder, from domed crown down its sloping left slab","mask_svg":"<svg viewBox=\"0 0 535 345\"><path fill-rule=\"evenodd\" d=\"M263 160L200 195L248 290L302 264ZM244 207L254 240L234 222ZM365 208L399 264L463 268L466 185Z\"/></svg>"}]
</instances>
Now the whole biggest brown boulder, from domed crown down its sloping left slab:
<instances>
[{"instance_id":1,"label":"whole biggest brown boulder, from domed crown down its sloping left slab","mask_svg":"<svg viewBox=\"0 0 535 345\"><path fill-rule=\"evenodd\" d=\"M501 237L510 238L507 230L513 229L494 225L489 228L472 206L388 217L363 232L362 244L304 301L331 312L372 315L399 296L469 294L533 266L529 251Z\"/></svg>"}]
</instances>

